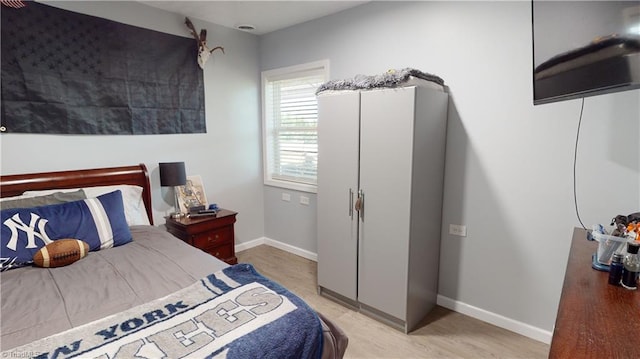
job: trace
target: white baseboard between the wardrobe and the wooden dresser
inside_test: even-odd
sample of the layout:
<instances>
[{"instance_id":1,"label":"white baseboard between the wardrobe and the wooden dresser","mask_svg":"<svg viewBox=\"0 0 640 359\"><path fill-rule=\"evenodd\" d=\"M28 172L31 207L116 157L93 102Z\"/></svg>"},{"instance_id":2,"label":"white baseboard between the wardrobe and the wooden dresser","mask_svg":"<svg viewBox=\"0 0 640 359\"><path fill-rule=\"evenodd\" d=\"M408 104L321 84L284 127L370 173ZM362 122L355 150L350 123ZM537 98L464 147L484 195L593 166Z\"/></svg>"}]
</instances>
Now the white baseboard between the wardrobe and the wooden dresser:
<instances>
[{"instance_id":1,"label":"white baseboard between the wardrobe and the wooden dresser","mask_svg":"<svg viewBox=\"0 0 640 359\"><path fill-rule=\"evenodd\" d=\"M474 307L457 300L453 300L440 294L438 294L437 303L440 306L451 309L458 313L468 315L470 317L482 320L483 322L487 322L500 328L504 328L512 332L524 335L531 339L535 339L546 344L551 343L551 337L553 336L553 333L548 330L540 329L538 327L534 327L532 325L522 323L511 318L507 318L500 314L489 312L487 310Z\"/></svg>"}]
</instances>

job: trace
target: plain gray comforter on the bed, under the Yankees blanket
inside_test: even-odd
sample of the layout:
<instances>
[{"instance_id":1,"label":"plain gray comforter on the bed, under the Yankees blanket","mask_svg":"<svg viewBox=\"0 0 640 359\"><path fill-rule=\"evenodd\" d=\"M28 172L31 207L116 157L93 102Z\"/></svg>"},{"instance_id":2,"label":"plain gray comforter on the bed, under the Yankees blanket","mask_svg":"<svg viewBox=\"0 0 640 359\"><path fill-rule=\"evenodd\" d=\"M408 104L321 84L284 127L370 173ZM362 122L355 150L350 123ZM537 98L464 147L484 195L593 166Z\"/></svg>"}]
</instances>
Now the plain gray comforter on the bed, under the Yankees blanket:
<instances>
[{"instance_id":1,"label":"plain gray comforter on the bed, under the Yankees blanket","mask_svg":"<svg viewBox=\"0 0 640 359\"><path fill-rule=\"evenodd\" d=\"M0 273L1 350L152 302L228 267L161 228L134 226L131 232L133 242L91 252L70 266ZM341 357L346 336L321 318L323 357Z\"/></svg>"}]
</instances>

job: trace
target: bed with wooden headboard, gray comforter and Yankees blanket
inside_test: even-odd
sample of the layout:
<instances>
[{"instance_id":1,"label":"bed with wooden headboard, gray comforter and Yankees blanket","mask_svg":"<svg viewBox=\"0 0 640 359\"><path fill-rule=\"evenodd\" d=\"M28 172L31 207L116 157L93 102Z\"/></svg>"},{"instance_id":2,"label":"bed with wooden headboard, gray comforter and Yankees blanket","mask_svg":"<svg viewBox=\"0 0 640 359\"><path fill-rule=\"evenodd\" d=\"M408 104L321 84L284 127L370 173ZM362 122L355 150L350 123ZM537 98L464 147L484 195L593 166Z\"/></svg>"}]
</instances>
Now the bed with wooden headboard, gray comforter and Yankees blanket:
<instances>
[{"instance_id":1,"label":"bed with wooden headboard, gray comforter and Yankees blanket","mask_svg":"<svg viewBox=\"0 0 640 359\"><path fill-rule=\"evenodd\" d=\"M0 182L3 357L344 355L344 332L286 288L250 264L230 266L153 226L143 164L8 175ZM9 248L32 241L33 254L47 240L85 233L69 232L80 227L100 232L104 225L93 212L92 226L85 222L94 202L104 208L111 237L78 234L90 238L86 257L41 268Z\"/></svg>"}]
</instances>

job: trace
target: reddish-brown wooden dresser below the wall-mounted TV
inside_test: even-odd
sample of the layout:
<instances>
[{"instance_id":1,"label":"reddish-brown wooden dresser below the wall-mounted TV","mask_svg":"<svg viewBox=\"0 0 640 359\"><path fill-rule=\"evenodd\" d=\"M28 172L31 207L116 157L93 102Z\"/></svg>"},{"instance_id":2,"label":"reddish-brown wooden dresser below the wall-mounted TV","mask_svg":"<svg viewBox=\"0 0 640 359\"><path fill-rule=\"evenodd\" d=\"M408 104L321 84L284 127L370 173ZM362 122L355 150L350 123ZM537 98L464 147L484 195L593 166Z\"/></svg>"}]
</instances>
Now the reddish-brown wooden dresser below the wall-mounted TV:
<instances>
[{"instance_id":1,"label":"reddish-brown wooden dresser below the wall-mounted TV","mask_svg":"<svg viewBox=\"0 0 640 359\"><path fill-rule=\"evenodd\" d=\"M591 268L597 247L574 230L549 358L640 358L640 291Z\"/></svg>"}]
</instances>

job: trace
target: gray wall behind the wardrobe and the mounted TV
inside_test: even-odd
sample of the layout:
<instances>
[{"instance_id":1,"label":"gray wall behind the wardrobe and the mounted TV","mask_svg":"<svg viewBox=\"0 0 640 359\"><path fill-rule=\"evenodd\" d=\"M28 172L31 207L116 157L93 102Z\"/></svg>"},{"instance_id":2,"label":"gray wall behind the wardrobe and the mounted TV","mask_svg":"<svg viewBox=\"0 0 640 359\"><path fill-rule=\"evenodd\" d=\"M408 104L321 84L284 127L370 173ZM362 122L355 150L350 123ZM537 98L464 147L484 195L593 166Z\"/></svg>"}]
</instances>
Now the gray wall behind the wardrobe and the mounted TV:
<instances>
[{"instance_id":1,"label":"gray wall behind the wardrobe and the mounted TV","mask_svg":"<svg viewBox=\"0 0 640 359\"><path fill-rule=\"evenodd\" d=\"M533 106L530 2L372 2L262 36L260 56L261 70L329 59L332 79L403 67L443 77L439 294L548 339L579 226L580 100ZM585 100L577 193L587 226L640 208L639 104L638 90ZM315 252L315 207L264 191L265 235ZM449 235L449 223L467 225L467 237Z\"/></svg>"}]
</instances>

